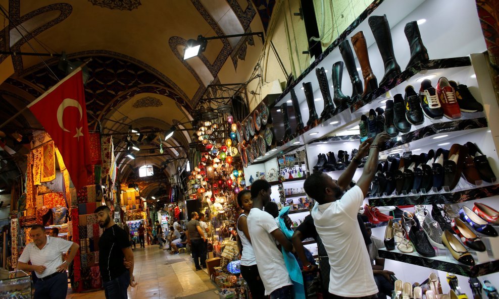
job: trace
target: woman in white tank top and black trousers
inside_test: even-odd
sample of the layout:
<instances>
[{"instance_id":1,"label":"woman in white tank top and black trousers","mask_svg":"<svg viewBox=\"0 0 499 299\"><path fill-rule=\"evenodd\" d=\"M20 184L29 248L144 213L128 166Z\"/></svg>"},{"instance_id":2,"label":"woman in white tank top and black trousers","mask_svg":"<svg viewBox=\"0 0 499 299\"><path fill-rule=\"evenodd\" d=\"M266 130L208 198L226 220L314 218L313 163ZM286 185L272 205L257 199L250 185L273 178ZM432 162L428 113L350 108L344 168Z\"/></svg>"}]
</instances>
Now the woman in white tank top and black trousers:
<instances>
[{"instance_id":1,"label":"woman in white tank top and black trousers","mask_svg":"<svg viewBox=\"0 0 499 299\"><path fill-rule=\"evenodd\" d=\"M251 192L249 190L239 192L237 195L237 203L243 210L237 219L236 225L237 235L239 235L239 240L242 245L241 275L249 287L252 298L263 299L266 297L265 287L262 279L260 278L260 274L258 273L257 259L255 257L255 253L253 252L247 225L247 216L249 214L249 210L253 207Z\"/></svg>"}]
</instances>

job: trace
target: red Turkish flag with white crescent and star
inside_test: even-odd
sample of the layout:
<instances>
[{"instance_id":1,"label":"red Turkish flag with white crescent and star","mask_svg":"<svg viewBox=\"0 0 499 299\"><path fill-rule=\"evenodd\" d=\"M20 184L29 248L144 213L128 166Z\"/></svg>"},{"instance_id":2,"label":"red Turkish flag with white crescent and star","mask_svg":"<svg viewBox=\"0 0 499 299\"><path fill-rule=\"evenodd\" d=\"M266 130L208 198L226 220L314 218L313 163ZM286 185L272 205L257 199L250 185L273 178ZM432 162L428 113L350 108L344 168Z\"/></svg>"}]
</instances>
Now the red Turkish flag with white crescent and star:
<instances>
[{"instance_id":1,"label":"red Turkish flag with white crescent and star","mask_svg":"<svg viewBox=\"0 0 499 299\"><path fill-rule=\"evenodd\" d=\"M75 70L28 105L61 152L76 189L91 174L88 123L81 69Z\"/></svg>"}]
</instances>

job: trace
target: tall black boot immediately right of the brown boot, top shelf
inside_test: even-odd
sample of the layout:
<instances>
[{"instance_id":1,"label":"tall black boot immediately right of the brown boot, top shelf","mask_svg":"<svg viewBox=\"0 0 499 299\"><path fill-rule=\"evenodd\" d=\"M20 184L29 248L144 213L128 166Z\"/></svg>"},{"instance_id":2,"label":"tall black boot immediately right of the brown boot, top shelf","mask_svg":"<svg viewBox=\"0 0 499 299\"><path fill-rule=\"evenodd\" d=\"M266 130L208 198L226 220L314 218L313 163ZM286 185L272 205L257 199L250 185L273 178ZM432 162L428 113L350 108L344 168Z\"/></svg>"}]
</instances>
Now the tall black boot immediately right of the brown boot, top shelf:
<instances>
[{"instance_id":1,"label":"tall black boot immediately right of the brown boot, top shelf","mask_svg":"<svg viewBox=\"0 0 499 299\"><path fill-rule=\"evenodd\" d=\"M395 61L395 53L393 52L393 42L391 40L390 26L386 20L386 15L369 17L369 26L373 32L374 39L378 45L381 58L385 66L385 75L379 82L379 85L384 85L396 75L401 73L400 67Z\"/></svg>"}]
</instances>

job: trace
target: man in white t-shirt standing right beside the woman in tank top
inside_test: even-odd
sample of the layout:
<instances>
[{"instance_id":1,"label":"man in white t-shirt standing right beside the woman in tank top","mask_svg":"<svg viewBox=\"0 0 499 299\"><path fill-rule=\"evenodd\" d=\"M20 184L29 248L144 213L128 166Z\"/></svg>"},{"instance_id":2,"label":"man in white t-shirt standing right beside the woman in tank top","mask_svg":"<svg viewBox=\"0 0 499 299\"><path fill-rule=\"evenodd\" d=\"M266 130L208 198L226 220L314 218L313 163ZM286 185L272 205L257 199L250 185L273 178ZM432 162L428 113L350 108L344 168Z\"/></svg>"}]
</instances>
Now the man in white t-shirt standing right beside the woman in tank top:
<instances>
[{"instance_id":1,"label":"man in white t-shirt standing right beside the woman in tank top","mask_svg":"<svg viewBox=\"0 0 499 299\"><path fill-rule=\"evenodd\" d=\"M293 284L276 241L287 251L292 251L293 245L279 229L274 217L263 211L264 205L271 200L271 193L271 185L265 180L257 180L251 185L253 208L247 219L248 231L265 295L270 295L270 299L287 299L294 295Z\"/></svg>"}]
</instances>

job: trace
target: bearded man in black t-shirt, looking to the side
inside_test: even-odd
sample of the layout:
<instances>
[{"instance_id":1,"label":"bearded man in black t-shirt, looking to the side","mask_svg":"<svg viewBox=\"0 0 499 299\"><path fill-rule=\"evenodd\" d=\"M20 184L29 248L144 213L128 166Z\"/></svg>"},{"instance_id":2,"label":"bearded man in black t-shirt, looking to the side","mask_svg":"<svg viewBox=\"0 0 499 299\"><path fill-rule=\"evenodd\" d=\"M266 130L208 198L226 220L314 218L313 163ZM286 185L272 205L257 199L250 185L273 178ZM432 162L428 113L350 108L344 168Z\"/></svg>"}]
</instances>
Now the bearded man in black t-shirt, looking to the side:
<instances>
[{"instance_id":1,"label":"bearded man in black t-shirt, looking to the side","mask_svg":"<svg viewBox=\"0 0 499 299\"><path fill-rule=\"evenodd\" d=\"M133 253L126 232L116 224L111 210L100 206L94 212L104 233L99 238L99 269L106 299L126 299L128 285L135 287Z\"/></svg>"}]
</instances>

